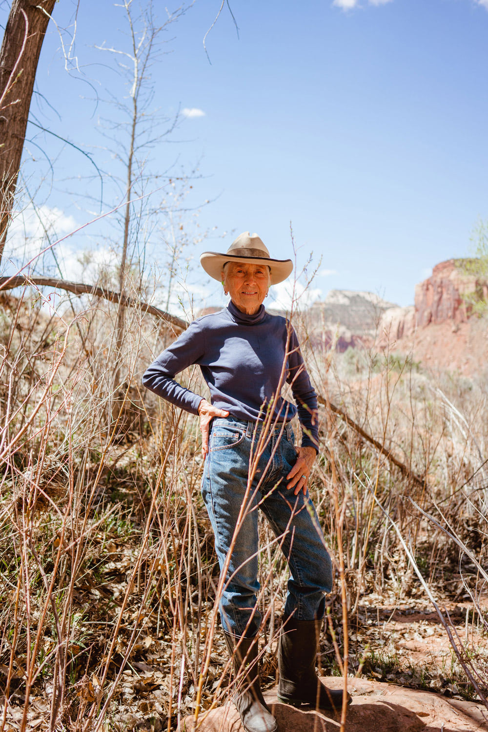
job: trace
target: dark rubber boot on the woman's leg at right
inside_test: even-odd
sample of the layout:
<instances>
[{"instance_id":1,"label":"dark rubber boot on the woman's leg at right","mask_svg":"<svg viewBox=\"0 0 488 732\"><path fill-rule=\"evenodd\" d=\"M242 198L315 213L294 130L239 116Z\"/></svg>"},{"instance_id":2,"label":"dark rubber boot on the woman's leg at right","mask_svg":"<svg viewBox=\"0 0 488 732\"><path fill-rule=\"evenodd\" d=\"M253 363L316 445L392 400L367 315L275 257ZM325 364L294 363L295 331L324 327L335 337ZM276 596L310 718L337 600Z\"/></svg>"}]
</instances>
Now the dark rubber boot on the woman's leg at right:
<instances>
[{"instance_id":1,"label":"dark rubber boot on the woman's leg at right","mask_svg":"<svg viewBox=\"0 0 488 732\"><path fill-rule=\"evenodd\" d=\"M318 712L340 713L342 690L328 689L317 676L315 659L320 638L320 620L289 618L279 636L278 701L292 706L312 706ZM351 698L348 694L348 704Z\"/></svg>"}]
</instances>

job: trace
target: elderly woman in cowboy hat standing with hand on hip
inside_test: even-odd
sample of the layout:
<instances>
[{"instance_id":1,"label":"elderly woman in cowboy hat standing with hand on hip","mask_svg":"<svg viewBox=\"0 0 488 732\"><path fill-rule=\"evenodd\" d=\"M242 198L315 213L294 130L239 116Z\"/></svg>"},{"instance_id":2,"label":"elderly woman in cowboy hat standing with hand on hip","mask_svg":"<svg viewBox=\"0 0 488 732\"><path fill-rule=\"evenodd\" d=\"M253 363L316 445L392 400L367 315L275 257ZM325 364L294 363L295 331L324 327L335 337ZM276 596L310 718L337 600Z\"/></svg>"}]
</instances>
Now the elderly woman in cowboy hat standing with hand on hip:
<instances>
[{"instance_id":1,"label":"elderly woman in cowboy hat standing with hand on hip","mask_svg":"<svg viewBox=\"0 0 488 732\"><path fill-rule=\"evenodd\" d=\"M315 671L324 595L332 585L331 560L307 492L318 452L317 398L293 327L263 307L270 285L290 275L290 259L271 258L259 236L247 231L227 253L205 252L200 263L222 281L230 302L190 324L149 367L143 384L200 415L202 495L225 578L220 617L234 671L244 676L234 702L248 732L274 732L257 670L258 507L290 569L279 638L279 701L324 712L342 706L342 691L328 690ZM192 364L200 366L210 402L174 380ZM281 396L285 382L296 406ZM301 447L295 447L290 424L297 411Z\"/></svg>"}]
</instances>

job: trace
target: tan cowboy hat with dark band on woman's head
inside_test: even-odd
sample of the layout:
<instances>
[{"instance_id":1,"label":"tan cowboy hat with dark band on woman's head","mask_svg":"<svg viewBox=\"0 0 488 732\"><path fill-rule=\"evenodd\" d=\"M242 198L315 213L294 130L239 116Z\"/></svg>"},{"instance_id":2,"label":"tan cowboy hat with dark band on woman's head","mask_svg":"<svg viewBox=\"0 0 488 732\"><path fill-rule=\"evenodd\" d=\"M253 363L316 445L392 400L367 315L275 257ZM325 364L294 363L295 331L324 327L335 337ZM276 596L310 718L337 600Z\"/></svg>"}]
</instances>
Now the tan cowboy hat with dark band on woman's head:
<instances>
[{"instance_id":1,"label":"tan cowboy hat with dark band on woman's head","mask_svg":"<svg viewBox=\"0 0 488 732\"><path fill-rule=\"evenodd\" d=\"M200 264L207 275L214 280L222 280L222 269L225 262L247 262L247 264L266 264L271 270L271 285L277 285L286 280L293 270L291 259L271 259L269 251L261 242L258 234L239 234L225 254L220 252L203 252L200 254Z\"/></svg>"}]
</instances>

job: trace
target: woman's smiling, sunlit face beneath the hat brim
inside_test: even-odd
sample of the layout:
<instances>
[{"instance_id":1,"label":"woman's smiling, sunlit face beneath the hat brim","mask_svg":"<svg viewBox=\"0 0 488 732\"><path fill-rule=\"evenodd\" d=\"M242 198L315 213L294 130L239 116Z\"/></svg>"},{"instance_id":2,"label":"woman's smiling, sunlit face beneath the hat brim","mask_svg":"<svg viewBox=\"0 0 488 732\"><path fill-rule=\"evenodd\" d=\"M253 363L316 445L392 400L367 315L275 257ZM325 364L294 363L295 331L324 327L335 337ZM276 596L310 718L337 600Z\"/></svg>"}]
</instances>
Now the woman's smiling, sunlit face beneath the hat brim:
<instances>
[{"instance_id":1,"label":"woman's smiling, sunlit face beneath the hat brim","mask_svg":"<svg viewBox=\"0 0 488 732\"><path fill-rule=\"evenodd\" d=\"M224 289L241 313L254 315L258 312L269 290L269 266L266 264L244 264L226 262L222 270Z\"/></svg>"}]
</instances>

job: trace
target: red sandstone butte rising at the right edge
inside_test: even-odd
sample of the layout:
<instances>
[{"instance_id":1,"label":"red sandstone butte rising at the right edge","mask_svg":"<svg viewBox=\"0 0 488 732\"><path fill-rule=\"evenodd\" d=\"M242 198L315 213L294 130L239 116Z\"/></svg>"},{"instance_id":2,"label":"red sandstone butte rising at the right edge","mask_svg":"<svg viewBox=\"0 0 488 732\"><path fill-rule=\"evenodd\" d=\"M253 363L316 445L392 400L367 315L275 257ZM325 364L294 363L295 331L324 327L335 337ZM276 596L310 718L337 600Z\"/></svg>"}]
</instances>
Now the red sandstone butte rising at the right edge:
<instances>
[{"instance_id":1,"label":"red sandstone butte rising at the right edge","mask_svg":"<svg viewBox=\"0 0 488 732\"><path fill-rule=\"evenodd\" d=\"M377 345L410 353L432 369L473 376L487 370L487 320L473 315L465 296L488 302L488 280L466 275L459 260L437 264L416 285L415 305L391 307L380 318Z\"/></svg>"}]
</instances>

